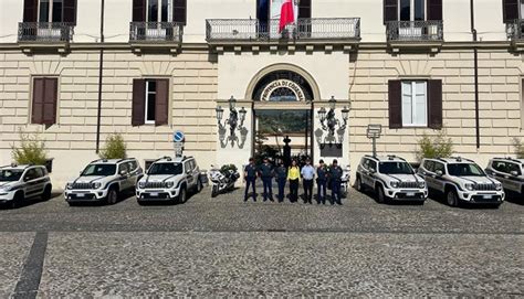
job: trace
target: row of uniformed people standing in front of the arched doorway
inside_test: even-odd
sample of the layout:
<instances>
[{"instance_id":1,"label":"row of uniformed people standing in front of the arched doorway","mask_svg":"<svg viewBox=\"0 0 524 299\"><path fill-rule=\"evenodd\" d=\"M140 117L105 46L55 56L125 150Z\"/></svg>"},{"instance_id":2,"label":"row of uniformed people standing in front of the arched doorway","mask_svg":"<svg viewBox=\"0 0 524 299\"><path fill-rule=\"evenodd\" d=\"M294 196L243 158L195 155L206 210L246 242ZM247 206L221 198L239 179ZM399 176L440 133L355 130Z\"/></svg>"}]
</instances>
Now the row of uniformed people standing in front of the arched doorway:
<instances>
[{"instance_id":1,"label":"row of uniformed people standing in front of the arched doorway","mask_svg":"<svg viewBox=\"0 0 524 299\"><path fill-rule=\"evenodd\" d=\"M252 189L253 201L256 201L256 179L262 179L263 184L263 197L265 201L274 201L273 199L273 179L279 185L279 202L284 201L285 184L290 183L290 201L298 201L298 185L302 181L304 188L304 203L313 203L313 186L316 181L317 185L317 204L325 204L327 199L327 184L332 189L332 196L329 199L331 204L342 204L340 200L340 183L343 169L338 165L338 161L333 160L333 164L327 167L323 160L315 168L311 164L311 160L307 159L305 165L302 169L297 165L296 160L291 162L291 165L286 168L282 160L279 160L276 165L270 163L268 158L264 158L263 163L256 165L254 159L249 160L249 164L244 168L244 180L245 180L245 192L244 202L249 199L249 190Z\"/></svg>"}]
</instances>

